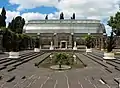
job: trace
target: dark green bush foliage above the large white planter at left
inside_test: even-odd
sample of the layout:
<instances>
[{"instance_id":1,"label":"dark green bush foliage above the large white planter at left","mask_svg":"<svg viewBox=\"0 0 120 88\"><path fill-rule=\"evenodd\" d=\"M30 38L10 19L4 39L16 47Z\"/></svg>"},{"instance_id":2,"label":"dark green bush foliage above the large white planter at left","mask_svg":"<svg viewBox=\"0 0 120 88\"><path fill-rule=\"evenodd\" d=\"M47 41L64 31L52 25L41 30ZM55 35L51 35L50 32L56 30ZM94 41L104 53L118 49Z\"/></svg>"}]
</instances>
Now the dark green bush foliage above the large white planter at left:
<instances>
[{"instance_id":1,"label":"dark green bush foliage above the large white planter at left","mask_svg":"<svg viewBox=\"0 0 120 88\"><path fill-rule=\"evenodd\" d=\"M2 28L3 31L3 40L2 45L7 51L18 51L19 47L19 36L15 34L10 29Z\"/></svg>"}]
</instances>

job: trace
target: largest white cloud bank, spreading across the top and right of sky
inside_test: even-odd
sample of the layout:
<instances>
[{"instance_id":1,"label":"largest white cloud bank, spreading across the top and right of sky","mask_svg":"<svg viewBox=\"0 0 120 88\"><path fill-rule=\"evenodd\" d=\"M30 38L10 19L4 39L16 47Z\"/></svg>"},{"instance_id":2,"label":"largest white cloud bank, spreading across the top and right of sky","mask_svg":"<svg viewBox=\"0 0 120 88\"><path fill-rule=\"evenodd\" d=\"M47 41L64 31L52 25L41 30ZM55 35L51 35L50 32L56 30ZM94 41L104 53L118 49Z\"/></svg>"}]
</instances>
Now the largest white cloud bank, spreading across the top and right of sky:
<instances>
[{"instance_id":1,"label":"largest white cloud bank, spreading across the top and right of sky","mask_svg":"<svg viewBox=\"0 0 120 88\"><path fill-rule=\"evenodd\" d=\"M76 18L105 19L115 14L119 9L120 0L9 0L11 4L19 5L17 10L32 9L40 6L51 6L64 12L65 18L70 18L76 13ZM53 19L56 18L52 15ZM37 14L37 13L35 13ZM58 16L58 15L57 15Z\"/></svg>"}]
</instances>

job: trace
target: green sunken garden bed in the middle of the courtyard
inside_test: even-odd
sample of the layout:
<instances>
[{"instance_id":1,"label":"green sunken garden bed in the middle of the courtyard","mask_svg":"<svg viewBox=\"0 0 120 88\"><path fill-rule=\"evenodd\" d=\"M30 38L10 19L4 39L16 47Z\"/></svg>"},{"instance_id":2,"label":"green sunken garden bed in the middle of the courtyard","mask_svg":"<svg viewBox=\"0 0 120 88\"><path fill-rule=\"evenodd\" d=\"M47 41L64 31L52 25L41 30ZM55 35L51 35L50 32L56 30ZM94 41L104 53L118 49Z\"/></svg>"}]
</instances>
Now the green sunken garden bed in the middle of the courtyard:
<instances>
[{"instance_id":1,"label":"green sunken garden bed in the middle of the courtyard","mask_svg":"<svg viewBox=\"0 0 120 88\"><path fill-rule=\"evenodd\" d=\"M71 66L71 69L74 68L84 68L84 64L76 57L73 57L73 52L54 52L49 57L47 57L38 67L50 68L51 66L58 65L58 59L56 59L56 55L63 53L67 55L67 59L64 59L62 65Z\"/></svg>"}]
</instances>

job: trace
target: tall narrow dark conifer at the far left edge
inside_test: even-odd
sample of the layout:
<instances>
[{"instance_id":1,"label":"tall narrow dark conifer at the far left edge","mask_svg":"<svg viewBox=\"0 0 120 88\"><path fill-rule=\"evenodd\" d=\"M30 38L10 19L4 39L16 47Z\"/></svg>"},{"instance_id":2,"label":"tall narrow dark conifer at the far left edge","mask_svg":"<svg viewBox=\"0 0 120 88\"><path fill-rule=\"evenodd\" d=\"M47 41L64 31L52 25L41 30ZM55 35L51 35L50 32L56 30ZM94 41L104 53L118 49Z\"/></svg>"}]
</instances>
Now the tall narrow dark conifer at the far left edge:
<instances>
[{"instance_id":1,"label":"tall narrow dark conifer at the far left edge","mask_svg":"<svg viewBox=\"0 0 120 88\"><path fill-rule=\"evenodd\" d=\"M6 27L6 10L5 8L3 7L2 8L2 12L1 12L1 15L0 15L0 27Z\"/></svg>"}]
</instances>

